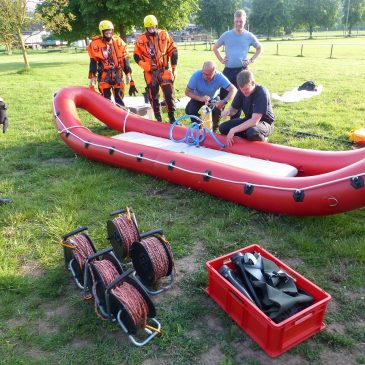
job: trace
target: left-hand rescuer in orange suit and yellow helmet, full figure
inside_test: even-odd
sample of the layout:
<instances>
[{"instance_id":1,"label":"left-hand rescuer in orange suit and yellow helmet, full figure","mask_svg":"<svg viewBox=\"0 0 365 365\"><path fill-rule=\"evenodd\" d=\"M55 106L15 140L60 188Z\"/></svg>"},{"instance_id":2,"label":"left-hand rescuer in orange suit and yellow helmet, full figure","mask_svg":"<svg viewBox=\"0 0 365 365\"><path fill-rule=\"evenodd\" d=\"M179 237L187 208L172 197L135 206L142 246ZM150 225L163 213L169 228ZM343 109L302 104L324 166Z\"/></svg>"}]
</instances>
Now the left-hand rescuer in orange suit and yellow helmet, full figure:
<instances>
[{"instance_id":1,"label":"left-hand rescuer in orange suit and yellow helmet, full figure","mask_svg":"<svg viewBox=\"0 0 365 365\"><path fill-rule=\"evenodd\" d=\"M101 94L110 100L113 91L115 102L124 106L123 71L126 83L131 82L131 89L134 87L127 45L120 37L113 35L114 26L109 20L102 20L99 30L101 35L93 37L87 48L90 86L94 87L97 79Z\"/></svg>"}]
</instances>

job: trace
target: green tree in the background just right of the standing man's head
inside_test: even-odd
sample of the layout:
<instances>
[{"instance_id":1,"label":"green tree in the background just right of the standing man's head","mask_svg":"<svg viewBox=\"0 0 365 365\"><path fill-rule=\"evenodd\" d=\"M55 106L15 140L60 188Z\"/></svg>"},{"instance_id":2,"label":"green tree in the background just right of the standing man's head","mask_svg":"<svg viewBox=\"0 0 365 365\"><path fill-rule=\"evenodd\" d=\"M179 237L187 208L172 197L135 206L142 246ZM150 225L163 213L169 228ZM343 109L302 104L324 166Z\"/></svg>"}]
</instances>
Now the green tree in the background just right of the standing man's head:
<instances>
[{"instance_id":1,"label":"green tree in the background just right of the standing man's head","mask_svg":"<svg viewBox=\"0 0 365 365\"><path fill-rule=\"evenodd\" d=\"M291 5L290 0L253 0L250 25L267 39L275 32L287 32L292 23Z\"/></svg>"}]
</instances>

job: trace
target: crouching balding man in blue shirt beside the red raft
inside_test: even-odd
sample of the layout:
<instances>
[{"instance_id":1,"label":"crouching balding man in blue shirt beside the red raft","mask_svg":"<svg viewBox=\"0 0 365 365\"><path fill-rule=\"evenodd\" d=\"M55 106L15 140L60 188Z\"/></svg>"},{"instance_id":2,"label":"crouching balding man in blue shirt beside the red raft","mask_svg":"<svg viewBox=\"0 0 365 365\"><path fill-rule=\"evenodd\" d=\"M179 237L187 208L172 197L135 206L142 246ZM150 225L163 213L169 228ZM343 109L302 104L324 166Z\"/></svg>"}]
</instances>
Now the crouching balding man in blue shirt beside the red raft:
<instances>
[{"instance_id":1,"label":"crouching balding man in blue shirt beside the red raft","mask_svg":"<svg viewBox=\"0 0 365 365\"><path fill-rule=\"evenodd\" d=\"M219 89L227 91L224 99L217 98ZM213 61L206 61L201 70L195 71L190 77L185 95L191 98L185 108L188 115L200 116L199 109L212 100L216 99L215 107L212 111L213 132L218 129L219 117L221 110L236 94L237 89L231 82L219 71ZM192 119L194 122L195 120Z\"/></svg>"}]
</instances>

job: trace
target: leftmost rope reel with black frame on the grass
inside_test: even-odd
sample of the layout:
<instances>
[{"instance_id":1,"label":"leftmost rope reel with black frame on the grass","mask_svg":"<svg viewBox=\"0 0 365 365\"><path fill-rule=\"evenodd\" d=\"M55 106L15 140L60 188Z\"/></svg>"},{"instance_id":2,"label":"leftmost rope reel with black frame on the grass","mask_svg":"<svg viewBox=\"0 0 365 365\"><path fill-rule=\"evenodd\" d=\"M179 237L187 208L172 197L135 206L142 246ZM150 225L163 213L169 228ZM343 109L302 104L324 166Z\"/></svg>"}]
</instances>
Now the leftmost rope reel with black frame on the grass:
<instances>
[{"instance_id":1,"label":"leftmost rope reel with black frame on the grass","mask_svg":"<svg viewBox=\"0 0 365 365\"><path fill-rule=\"evenodd\" d=\"M83 233L87 229L88 227L83 226L69 233L66 233L62 236L61 242L61 245L63 246L65 266L71 272L72 278L75 281L77 287L83 290L84 293L89 291L88 282L90 279L90 273L87 270L88 265L86 265L87 257L83 262L82 268L77 258L75 257L75 249L77 250L77 241L80 241L83 242L83 244L85 245L85 252L96 252L95 246L91 238L86 233Z\"/></svg>"}]
</instances>

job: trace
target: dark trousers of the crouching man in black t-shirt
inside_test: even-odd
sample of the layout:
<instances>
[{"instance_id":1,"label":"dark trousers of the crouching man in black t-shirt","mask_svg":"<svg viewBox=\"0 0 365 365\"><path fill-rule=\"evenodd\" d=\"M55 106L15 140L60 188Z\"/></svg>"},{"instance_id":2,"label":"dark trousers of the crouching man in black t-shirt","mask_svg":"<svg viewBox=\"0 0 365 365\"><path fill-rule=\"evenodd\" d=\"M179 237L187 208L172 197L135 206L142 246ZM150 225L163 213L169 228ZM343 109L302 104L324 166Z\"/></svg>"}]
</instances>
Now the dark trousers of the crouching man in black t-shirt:
<instances>
[{"instance_id":1,"label":"dark trousers of the crouching man in black t-shirt","mask_svg":"<svg viewBox=\"0 0 365 365\"><path fill-rule=\"evenodd\" d=\"M244 123L246 120L250 118L236 118L231 119L228 122L224 122L219 126L219 131L221 134L228 134L229 131L237 127L238 125ZM265 138L274 132L274 124L270 124L264 121L261 121L257 124L256 127L251 127L246 129L244 132L236 133L236 136L246 138L249 141L265 141Z\"/></svg>"}]
</instances>

